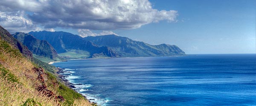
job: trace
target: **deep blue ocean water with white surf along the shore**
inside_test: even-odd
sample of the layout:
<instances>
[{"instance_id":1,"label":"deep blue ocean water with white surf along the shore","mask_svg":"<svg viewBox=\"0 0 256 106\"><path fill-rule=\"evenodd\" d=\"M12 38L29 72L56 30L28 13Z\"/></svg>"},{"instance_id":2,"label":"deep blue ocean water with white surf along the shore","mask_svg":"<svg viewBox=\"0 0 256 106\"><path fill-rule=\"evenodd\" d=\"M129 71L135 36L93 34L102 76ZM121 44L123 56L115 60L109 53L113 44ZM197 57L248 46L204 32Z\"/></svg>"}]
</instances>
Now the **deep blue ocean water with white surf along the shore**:
<instances>
[{"instance_id":1,"label":"deep blue ocean water with white surf along the shore","mask_svg":"<svg viewBox=\"0 0 256 106\"><path fill-rule=\"evenodd\" d=\"M256 106L256 54L83 59L53 65L65 68L67 79L78 84L76 90L102 106Z\"/></svg>"}]
</instances>

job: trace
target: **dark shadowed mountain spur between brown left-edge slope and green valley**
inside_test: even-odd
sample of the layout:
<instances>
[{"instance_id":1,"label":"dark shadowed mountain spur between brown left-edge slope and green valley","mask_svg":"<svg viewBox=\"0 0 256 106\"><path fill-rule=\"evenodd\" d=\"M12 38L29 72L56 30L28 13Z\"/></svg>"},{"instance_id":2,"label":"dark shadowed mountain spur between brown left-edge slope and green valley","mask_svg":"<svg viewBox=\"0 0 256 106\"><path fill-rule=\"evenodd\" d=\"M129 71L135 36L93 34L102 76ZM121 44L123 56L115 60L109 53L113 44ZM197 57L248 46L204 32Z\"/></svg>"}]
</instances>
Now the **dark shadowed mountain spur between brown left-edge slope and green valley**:
<instances>
[{"instance_id":1,"label":"dark shadowed mountain spur between brown left-edge slope and green valley","mask_svg":"<svg viewBox=\"0 0 256 106\"><path fill-rule=\"evenodd\" d=\"M36 39L34 36L28 33L17 32L13 36L19 40L23 45L29 48L34 54L33 56L42 56L49 59L49 61L60 61L62 60L56 50L46 40Z\"/></svg>"}]
</instances>

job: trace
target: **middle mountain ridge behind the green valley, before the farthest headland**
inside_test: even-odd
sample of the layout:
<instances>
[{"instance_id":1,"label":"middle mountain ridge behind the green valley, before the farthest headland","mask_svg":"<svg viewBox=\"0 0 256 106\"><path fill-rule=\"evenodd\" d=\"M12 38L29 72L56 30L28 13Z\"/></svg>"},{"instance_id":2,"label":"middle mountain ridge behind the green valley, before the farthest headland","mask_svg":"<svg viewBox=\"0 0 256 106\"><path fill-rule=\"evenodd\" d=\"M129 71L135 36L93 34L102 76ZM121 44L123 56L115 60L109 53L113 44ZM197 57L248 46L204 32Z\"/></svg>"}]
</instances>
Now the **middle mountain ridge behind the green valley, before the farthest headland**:
<instances>
[{"instance_id":1,"label":"middle mountain ridge behind the green valley, before the farthest headland","mask_svg":"<svg viewBox=\"0 0 256 106\"><path fill-rule=\"evenodd\" d=\"M55 48L57 53L67 53L71 51L79 53L79 50L83 50L82 53L89 53L87 57L119 57L119 54L113 52L109 47L99 47L93 42L86 41L82 37L72 33L63 31L32 31L29 32L29 34L35 36L37 39L47 40Z\"/></svg>"}]
</instances>

